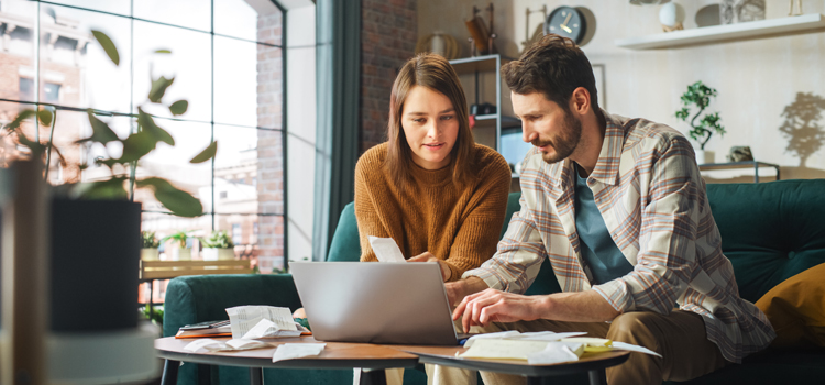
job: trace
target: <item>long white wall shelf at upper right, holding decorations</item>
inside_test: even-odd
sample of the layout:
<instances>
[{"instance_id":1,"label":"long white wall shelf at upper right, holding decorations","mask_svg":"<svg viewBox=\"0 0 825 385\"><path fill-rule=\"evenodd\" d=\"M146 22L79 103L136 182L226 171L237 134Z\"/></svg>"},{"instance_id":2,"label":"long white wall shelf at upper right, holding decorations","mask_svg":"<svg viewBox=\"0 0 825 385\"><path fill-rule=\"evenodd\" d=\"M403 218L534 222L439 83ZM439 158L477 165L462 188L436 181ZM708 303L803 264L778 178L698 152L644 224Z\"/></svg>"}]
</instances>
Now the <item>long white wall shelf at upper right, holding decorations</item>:
<instances>
[{"instance_id":1,"label":"long white wall shelf at upper right, holding decorations","mask_svg":"<svg viewBox=\"0 0 825 385\"><path fill-rule=\"evenodd\" d=\"M815 31L818 30L818 31ZM799 16L751 21L737 24L714 25L656 35L620 38L616 45L630 50L672 48L683 45L711 44L737 38L755 38L799 32L825 31L825 20L820 13Z\"/></svg>"}]
</instances>

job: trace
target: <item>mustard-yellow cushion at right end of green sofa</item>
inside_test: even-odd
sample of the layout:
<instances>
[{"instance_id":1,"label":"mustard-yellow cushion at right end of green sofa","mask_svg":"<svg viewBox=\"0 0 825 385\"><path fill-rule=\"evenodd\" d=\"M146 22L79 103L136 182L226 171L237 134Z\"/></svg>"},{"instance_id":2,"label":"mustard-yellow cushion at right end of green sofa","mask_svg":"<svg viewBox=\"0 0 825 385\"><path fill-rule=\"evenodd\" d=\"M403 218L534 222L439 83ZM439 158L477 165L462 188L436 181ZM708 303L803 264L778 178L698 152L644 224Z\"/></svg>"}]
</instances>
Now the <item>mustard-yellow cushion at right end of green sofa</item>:
<instances>
[{"instance_id":1,"label":"mustard-yellow cushion at right end of green sofa","mask_svg":"<svg viewBox=\"0 0 825 385\"><path fill-rule=\"evenodd\" d=\"M825 346L825 263L770 289L756 305L777 331L773 348Z\"/></svg>"}]
</instances>

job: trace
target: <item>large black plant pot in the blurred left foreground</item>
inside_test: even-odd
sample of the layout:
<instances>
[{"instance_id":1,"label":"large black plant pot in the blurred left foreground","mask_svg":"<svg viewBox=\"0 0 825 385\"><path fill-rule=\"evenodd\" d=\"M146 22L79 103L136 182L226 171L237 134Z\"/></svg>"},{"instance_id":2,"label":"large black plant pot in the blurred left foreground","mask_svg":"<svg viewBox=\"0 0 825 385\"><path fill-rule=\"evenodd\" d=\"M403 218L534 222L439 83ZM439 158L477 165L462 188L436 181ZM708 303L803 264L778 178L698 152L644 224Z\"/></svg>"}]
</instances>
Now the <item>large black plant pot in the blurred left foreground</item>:
<instances>
[{"instance_id":1,"label":"large black plant pot in the blurred left foreground","mask_svg":"<svg viewBox=\"0 0 825 385\"><path fill-rule=\"evenodd\" d=\"M51 230L52 331L136 328L141 204L54 198Z\"/></svg>"}]
</instances>

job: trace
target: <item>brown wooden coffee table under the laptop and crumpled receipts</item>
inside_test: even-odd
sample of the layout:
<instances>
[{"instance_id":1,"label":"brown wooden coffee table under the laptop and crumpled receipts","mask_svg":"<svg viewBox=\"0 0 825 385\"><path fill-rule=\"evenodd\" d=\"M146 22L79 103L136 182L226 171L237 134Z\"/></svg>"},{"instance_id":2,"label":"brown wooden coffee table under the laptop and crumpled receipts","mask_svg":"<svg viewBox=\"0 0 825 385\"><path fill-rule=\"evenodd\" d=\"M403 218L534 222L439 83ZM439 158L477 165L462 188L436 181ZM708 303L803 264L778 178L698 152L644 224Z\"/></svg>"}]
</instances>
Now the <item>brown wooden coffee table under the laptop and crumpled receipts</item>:
<instances>
[{"instance_id":1,"label":"brown wooden coffee table under the laptop and crumpled receipts","mask_svg":"<svg viewBox=\"0 0 825 385\"><path fill-rule=\"evenodd\" d=\"M216 338L215 340L229 340ZM166 360L163 370L163 385L177 384L177 370L180 362L191 362L207 365L242 366L250 369L250 383L263 384L263 370L275 369L353 369L363 367L371 371L363 372L362 384L386 384L384 369L414 367L418 364L418 356L393 349L388 345L370 343L327 342L327 348L318 356L272 362L274 348L249 350L240 352L199 352L190 353L184 350L194 339L175 339L167 337L155 340L157 356ZM312 337L279 338L267 340L274 345L283 343L315 343Z\"/></svg>"}]
</instances>

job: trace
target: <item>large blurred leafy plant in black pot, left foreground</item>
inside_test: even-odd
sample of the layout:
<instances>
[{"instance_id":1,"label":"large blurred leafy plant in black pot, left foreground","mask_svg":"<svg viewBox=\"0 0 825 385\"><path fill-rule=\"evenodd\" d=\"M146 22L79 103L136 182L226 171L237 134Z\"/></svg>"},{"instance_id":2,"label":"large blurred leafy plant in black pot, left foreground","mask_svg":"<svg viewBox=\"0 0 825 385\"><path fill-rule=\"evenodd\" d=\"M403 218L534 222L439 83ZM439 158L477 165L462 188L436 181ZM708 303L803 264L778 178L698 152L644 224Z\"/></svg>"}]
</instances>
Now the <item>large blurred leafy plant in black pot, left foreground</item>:
<instances>
[{"instance_id":1,"label":"large blurred leafy plant in black pot, left foreground","mask_svg":"<svg viewBox=\"0 0 825 385\"><path fill-rule=\"evenodd\" d=\"M95 38L116 65L120 56L112 41L102 32L92 31ZM157 51L168 54L167 50ZM174 78L163 76L150 79L148 102L160 105L174 116L186 112L188 102L177 100L167 105L163 97ZM109 168L110 177L54 188L52 200L52 255L51 255L51 329L55 332L103 331L133 329L134 298L138 297L138 274L141 243L141 204L132 201L135 188L152 190L155 199L169 211L182 217L202 215L200 200L180 190L169 182L157 177L135 177L138 163L154 151L160 142L175 144L174 139L162 129L154 117L141 106L136 114L128 114L136 122L138 130L125 139L119 138L107 122L98 118L98 111L87 110L91 136L77 143L94 144L106 148L107 156L96 164ZM42 107L23 110L3 130L19 145L28 147L29 158L50 165L52 153L66 165L61 151L52 141L42 142L37 131L28 138L22 124L36 119L41 128L54 129L57 110ZM30 132L32 132L30 131ZM117 143L118 146L108 144ZM114 154L109 148L120 148ZM196 155L190 162L201 163L215 156L217 142ZM80 169L88 165L79 165ZM45 167L45 179L48 167ZM44 175L32 177L44 177ZM105 289L101 289L105 288ZM94 314L96 317L77 317Z\"/></svg>"}]
</instances>

